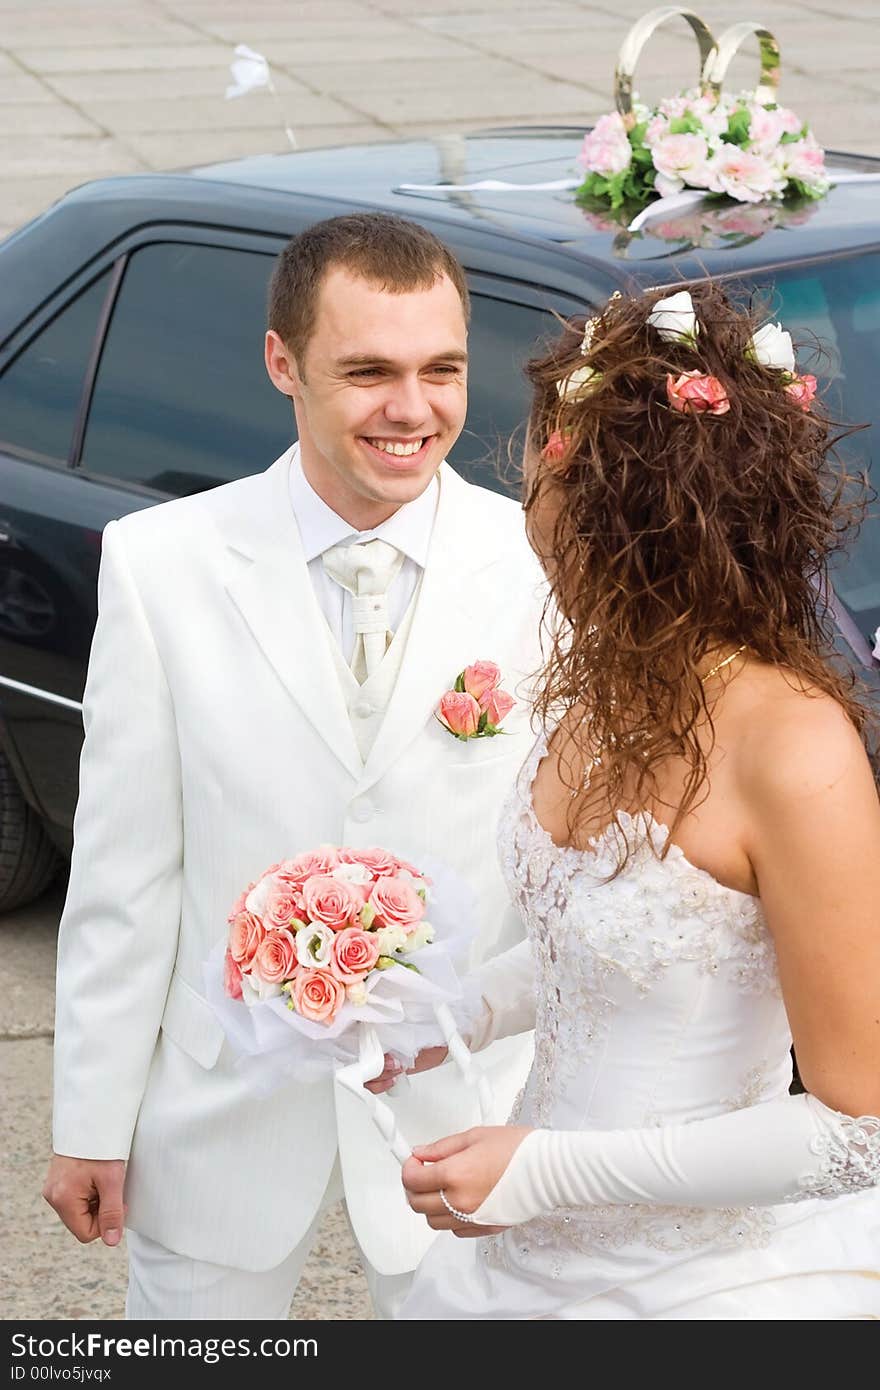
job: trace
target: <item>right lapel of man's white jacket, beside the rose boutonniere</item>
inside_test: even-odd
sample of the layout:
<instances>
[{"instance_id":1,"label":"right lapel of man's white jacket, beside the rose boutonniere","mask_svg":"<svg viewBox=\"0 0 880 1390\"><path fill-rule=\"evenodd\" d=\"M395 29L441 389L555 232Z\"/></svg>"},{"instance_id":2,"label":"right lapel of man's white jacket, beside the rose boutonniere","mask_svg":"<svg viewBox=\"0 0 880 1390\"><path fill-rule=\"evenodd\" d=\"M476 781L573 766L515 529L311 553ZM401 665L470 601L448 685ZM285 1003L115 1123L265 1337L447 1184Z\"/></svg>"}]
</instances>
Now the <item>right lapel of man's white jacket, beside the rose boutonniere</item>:
<instances>
[{"instance_id":1,"label":"right lapel of man's white jacket, beside the rose boutonniere","mask_svg":"<svg viewBox=\"0 0 880 1390\"><path fill-rule=\"evenodd\" d=\"M359 791L385 774L393 760L432 719L443 691L471 662L491 656L477 651L485 631L485 587L498 596L494 571L498 557L485 556L487 537L480 537L468 485L448 466L441 468L441 493L431 535L428 562L416 600L413 626L398 681L367 756ZM482 587L485 585L485 587Z\"/></svg>"}]
</instances>

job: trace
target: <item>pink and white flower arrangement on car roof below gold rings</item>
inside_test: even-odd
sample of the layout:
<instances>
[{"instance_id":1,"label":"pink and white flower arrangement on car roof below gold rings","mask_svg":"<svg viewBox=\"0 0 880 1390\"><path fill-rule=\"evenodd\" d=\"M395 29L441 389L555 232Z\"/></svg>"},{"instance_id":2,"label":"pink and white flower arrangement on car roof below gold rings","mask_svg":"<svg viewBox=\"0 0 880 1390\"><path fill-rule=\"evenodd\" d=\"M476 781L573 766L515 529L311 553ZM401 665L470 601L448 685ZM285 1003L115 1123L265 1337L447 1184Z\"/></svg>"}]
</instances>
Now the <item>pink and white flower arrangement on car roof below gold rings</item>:
<instances>
[{"instance_id":1,"label":"pink and white flower arrangement on car roof below gold rings","mask_svg":"<svg viewBox=\"0 0 880 1390\"><path fill-rule=\"evenodd\" d=\"M634 101L628 117L601 117L584 139L578 196L633 210L683 189L765 203L817 199L830 188L824 152L794 111L753 92L717 99L699 90L656 107Z\"/></svg>"}]
</instances>

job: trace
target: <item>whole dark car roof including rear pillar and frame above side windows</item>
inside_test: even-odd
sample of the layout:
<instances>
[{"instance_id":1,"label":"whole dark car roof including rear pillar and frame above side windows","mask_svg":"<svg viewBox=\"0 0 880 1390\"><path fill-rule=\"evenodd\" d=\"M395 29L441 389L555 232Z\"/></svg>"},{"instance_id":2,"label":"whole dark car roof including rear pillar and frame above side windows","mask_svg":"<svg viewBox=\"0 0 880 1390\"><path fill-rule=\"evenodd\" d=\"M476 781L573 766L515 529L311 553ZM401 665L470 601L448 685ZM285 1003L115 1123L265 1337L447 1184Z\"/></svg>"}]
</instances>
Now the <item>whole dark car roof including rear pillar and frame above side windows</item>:
<instances>
[{"instance_id":1,"label":"whole dark car roof including rear pillar and frame above side windows","mask_svg":"<svg viewBox=\"0 0 880 1390\"><path fill-rule=\"evenodd\" d=\"M598 303L617 286L751 274L880 243L880 158L862 154L833 153L829 165L873 179L841 183L816 202L703 204L698 214L670 218L665 213L637 234L602 225L571 189L456 192L442 186L576 178L582 138L581 126L513 126L253 156L83 183L0 245L0 348L61 285L79 278L90 259L153 224L200 224L286 239L307 221L381 208L427 222L470 270L538 285L580 303ZM405 188L409 183L423 186ZM708 229L696 246L680 235L695 215Z\"/></svg>"}]
</instances>

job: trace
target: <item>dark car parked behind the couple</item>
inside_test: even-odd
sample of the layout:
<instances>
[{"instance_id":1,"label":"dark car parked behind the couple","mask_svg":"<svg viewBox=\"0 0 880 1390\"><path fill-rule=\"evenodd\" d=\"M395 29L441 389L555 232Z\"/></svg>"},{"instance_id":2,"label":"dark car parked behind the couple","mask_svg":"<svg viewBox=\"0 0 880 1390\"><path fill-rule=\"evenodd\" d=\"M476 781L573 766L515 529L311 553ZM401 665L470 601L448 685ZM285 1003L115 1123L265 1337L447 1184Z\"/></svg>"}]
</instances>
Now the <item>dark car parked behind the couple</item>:
<instances>
[{"instance_id":1,"label":"dark car parked behind the couple","mask_svg":"<svg viewBox=\"0 0 880 1390\"><path fill-rule=\"evenodd\" d=\"M810 370L840 417L876 418L879 183L842 183L802 207L653 217L637 232L564 190L442 186L566 178L581 139L489 131L104 179L0 246L0 910L35 897L71 845L104 525L259 473L291 443L289 403L263 370L266 289L274 257L310 222L392 210L457 253L473 293L471 386L452 461L489 486L509 485L524 359L556 331L555 314L616 288L716 275L766 291L797 339L824 345ZM880 172L863 157L829 163ZM861 464L876 430L855 438ZM866 641L880 624L876 520L836 587L841 651L877 685Z\"/></svg>"}]
</instances>

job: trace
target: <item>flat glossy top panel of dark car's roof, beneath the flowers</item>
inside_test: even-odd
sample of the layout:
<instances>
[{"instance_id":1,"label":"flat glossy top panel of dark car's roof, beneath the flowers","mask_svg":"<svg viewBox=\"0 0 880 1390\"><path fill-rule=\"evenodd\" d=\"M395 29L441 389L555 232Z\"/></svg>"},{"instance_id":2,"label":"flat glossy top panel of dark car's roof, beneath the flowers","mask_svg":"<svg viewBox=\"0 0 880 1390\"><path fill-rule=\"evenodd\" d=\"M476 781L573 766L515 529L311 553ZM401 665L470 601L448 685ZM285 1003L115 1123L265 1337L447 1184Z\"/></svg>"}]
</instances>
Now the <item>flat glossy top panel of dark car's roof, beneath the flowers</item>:
<instances>
[{"instance_id":1,"label":"flat glossy top panel of dark car's roof, beneath the flowers","mask_svg":"<svg viewBox=\"0 0 880 1390\"><path fill-rule=\"evenodd\" d=\"M382 145L339 146L234 160L195 170L193 177L221 182L271 188L288 193L313 193L324 197L343 195L357 203L374 204L403 217L432 217L446 221L494 228L507 238L527 238L564 245L591 259L614 265L637 267L670 257L670 249L683 239L658 238L656 220L641 235L621 236L621 228L601 225L576 200L571 189L534 188L524 190L474 189L456 192L453 185L507 182L519 185L556 183L580 177L577 156L584 128L512 126L481 131L474 135L445 135L434 140L396 140ZM753 253L763 261L797 259L840 249L848 245L880 240L880 158L863 154L830 153L829 167L847 174L870 174L877 182L842 183L827 197L804 200L797 207L783 204L767 217L767 206L735 204L744 213L740 222L752 225ZM407 185L420 185L418 190ZM446 186L443 186L446 185ZM719 208L722 211L722 208ZM723 211L731 213L724 202ZM749 214L752 214L749 217ZM709 222L715 214L709 214ZM703 217L705 220L705 217ZM670 231L676 217L665 217ZM680 214L687 227L687 214ZM722 232L723 232L723 222ZM745 238L749 232L734 232ZM753 245L753 243L752 243ZM747 246L701 247L705 268L698 274L717 274L731 268L731 252ZM673 252L673 254L676 254ZM738 254L737 267L753 261L753 254ZM680 274L680 271L677 271Z\"/></svg>"}]
</instances>

